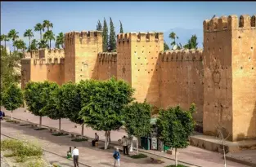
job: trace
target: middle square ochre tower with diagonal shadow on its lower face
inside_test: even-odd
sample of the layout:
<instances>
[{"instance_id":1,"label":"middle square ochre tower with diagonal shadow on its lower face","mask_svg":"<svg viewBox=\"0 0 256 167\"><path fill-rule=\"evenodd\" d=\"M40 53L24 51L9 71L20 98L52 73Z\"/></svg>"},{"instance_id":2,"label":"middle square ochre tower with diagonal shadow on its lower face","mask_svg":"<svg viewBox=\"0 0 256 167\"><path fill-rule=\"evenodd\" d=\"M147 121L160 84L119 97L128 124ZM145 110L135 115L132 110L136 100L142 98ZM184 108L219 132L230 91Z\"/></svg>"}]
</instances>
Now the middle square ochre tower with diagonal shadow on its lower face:
<instances>
[{"instance_id":1,"label":"middle square ochre tower with diagonal shadow on its lower face","mask_svg":"<svg viewBox=\"0 0 256 167\"><path fill-rule=\"evenodd\" d=\"M139 102L146 99L159 107L159 52L163 33L120 33L117 39L117 78L136 89Z\"/></svg>"}]
</instances>

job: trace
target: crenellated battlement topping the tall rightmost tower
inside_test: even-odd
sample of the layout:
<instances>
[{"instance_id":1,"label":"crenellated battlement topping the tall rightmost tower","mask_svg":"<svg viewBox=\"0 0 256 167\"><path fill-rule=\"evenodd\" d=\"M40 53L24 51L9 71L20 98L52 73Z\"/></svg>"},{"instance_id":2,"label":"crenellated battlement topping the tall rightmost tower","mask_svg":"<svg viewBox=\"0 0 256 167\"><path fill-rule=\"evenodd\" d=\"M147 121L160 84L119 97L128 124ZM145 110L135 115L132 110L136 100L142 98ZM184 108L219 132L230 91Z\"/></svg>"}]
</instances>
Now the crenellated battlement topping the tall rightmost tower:
<instances>
[{"instance_id":1,"label":"crenellated battlement topping the tall rightmost tower","mask_svg":"<svg viewBox=\"0 0 256 167\"><path fill-rule=\"evenodd\" d=\"M218 18L214 17L211 20L204 20L204 32L231 30L231 29L256 29L255 27L256 15L226 15Z\"/></svg>"}]
</instances>

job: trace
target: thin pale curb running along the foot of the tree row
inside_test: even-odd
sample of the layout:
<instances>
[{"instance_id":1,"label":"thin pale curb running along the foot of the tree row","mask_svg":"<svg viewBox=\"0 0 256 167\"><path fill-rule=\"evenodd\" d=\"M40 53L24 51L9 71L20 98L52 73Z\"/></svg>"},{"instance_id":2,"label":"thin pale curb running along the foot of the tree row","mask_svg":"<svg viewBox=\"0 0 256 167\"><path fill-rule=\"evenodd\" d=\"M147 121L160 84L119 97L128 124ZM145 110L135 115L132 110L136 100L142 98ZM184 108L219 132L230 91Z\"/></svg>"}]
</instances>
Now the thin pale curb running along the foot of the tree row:
<instances>
[{"instance_id":1,"label":"thin pale curb running along the foot of the tree row","mask_svg":"<svg viewBox=\"0 0 256 167\"><path fill-rule=\"evenodd\" d=\"M6 117L8 117L8 118L11 118L11 116L7 116L6 115ZM16 118L16 117L14 117L14 116L12 116L12 119L15 119L15 120L18 120L18 121L25 121L25 120L21 120L20 118ZM30 123L30 124L34 124L34 125L38 125L38 124L35 124L34 122L31 122L31 121L25 121L25 122L28 122L28 123ZM51 128L53 128L53 127L50 127L50 126L47 126L47 125L42 125L43 127L47 127L47 128L49 128L49 129L51 129ZM65 131L65 130L64 130ZM65 131L65 132L67 132L67 131ZM67 133L69 133L69 134L78 134L78 133L71 133L71 132L67 132ZM79 134L80 135L80 134ZM86 137L86 138L90 138L90 137L88 137L88 136L84 136L84 137ZM90 139L93 139L93 138L90 138ZM99 140L99 142L102 142L102 143L105 143L105 141L104 140ZM112 146L119 146L118 144L115 144L115 143L110 143L110 145L112 145ZM133 150L137 150L137 148L136 147L133 147L132 148ZM48 152L48 151L47 151ZM144 153L146 153L146 154L150 154L150 155L153 155L153 156L159 156L159 157L161 157L161 158L165 158L165 159L168 159L168 160L175 160L174 158L170 158L170 157L167 157L167 156L161 156L161 155L157 155L157 154L154 154L154 153L151 153L151 152L146 152L146 151L144 151L144 150L142 150L142 149L140 149L139 148L139 152L144 152ZM50 153L52 153L52 152L50 152ZM53 153L53 154L56 154L56 153ZM56 154L57 155L57 154ZM60 155L57 155L57 156L60 156ZM62 157L62 156L61 156ZM185 161L182 161L182 160L177 160L177 162L181 162L181 163L183 163L183 164L186 164L186 165L191 165L191 166L193 166L193 167L203 167L203 166L200 166L200 165L194 165L194 164L191 164L191 163L188 163L188 162L185 162ZM83 165L83 164L82 164ZM90 166L90 167L92 167L92 166Z\"/></svg>"}]
</instances>

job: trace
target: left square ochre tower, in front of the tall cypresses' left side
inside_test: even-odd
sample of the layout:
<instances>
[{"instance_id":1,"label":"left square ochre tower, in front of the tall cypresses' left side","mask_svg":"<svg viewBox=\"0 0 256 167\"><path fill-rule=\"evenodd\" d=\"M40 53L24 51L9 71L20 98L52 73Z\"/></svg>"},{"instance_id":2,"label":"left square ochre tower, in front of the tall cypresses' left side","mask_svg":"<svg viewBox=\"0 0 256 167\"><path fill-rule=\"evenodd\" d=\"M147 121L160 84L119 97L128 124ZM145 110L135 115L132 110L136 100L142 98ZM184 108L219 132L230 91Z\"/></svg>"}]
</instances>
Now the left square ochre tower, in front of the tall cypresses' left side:
<instances>
[{"instance_id":1,"label":"left square ochre tower, in front of the tall cypresses' left side","mask_svg":"<svg viewBox=\"0 0 256 167\"><path fill-rule=\"evenodd\" d=\"M65 33L65 82L97 79L97 54L101 51L101 31Z\"/></svg>"}]
</instances>

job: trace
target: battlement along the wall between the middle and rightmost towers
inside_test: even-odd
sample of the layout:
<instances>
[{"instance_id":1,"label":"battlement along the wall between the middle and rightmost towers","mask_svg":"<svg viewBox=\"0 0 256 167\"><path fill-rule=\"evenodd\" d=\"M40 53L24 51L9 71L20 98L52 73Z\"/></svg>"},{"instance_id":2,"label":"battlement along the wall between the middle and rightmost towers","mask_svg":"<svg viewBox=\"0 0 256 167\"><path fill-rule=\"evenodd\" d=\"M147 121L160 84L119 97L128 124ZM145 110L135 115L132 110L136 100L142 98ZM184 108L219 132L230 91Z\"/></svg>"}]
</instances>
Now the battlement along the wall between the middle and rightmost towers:
<instances>
[{"instance_id":1,"label":"battlement along the wall between the middle and rightmost towers","mask_svg":"<svg viewBox=\"0 0 256 167\"><path fill-rule=\"evenodd\" d=\"M203 59L203 50L162 51L159 55L163 62L199 61Z\"/></svg>"}]
</instances>

